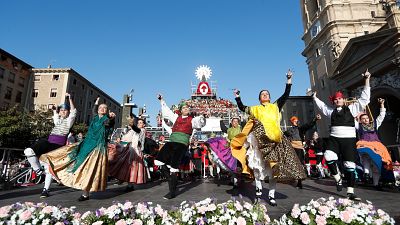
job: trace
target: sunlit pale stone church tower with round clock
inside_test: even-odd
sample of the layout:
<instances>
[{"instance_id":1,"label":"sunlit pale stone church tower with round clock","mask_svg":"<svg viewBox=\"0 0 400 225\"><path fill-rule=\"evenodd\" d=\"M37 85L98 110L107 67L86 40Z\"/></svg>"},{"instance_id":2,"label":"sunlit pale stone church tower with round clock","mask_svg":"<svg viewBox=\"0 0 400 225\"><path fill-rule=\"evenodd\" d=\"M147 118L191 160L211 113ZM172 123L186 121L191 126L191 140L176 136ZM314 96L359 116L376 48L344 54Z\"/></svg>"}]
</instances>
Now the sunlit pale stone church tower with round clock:
<instances>
[{"instance_id":1,"label":"sunlit pale stone church tower with round clock","mask_svg":"<svg viewBox=\"0 0 400 225\"><path fill-rule=\"evenodd\" d=\"M385 10L379 0L301 0L306 57L311 90L326 102L341 88L330 78L350 39L373 33L385 24ZM320 127L328 135L328 121Z\"/></svg>"}]
</instances>

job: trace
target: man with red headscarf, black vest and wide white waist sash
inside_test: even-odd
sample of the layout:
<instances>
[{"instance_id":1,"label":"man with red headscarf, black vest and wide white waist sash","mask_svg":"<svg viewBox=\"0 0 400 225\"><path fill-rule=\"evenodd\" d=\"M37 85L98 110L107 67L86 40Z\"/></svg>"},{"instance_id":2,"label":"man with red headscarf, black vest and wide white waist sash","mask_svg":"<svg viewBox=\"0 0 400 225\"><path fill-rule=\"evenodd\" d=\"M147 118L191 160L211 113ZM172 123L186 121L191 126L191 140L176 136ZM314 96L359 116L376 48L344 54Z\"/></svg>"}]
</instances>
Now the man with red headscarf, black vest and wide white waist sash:
<instances>
[{"instance_id":1,"label":"man with red headscarf, black vest and wide white waist sash","mask_svg":"<svg viewBox=\"0 0 400 225\"><path fill-rule=\"evenodd\" d=\"M344 174L347 180L347 197L351 200L360 200L354 194L355 184L355 169L356 169L356 129L354 118L363 112L365 107L370 101L371 88L369 79L371 74L368 70L362 74L365 79L364 90L361 97L350 104L345 105L344 95L341 92L336 92L330 97L334 108L327 106L324 102L319 100L316 92L313 94L314 102L321 112L331 119L331 132L326 145L324 153L328 168L335 178L337 191L342 190L342 177L338 171L337 161L339 155L342 156L341 160L344 166Z\"/></svg>"}]
</instances>

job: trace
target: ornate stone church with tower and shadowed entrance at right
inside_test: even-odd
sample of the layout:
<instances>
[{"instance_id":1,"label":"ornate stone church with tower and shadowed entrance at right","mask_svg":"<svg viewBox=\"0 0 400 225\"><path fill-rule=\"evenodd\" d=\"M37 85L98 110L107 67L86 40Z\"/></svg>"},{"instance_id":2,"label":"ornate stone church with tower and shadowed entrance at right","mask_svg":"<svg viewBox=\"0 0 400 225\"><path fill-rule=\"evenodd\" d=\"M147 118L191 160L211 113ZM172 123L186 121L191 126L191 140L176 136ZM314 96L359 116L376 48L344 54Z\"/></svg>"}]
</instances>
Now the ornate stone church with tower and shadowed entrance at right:
<instances>
[{"instance_id":1,"label":"ornate stone church with tower and shadowed entrance at right","mask_svg":"<svg viewBox=\"0 0 400 225\"><path fill-rule=\"evenodd\" d=\"M308 13L317 2L315 13ZM400 10L394 0L323 1L302 0L305 34L303 55L307 58L311 88L320 99L341 90L358 98L363 87L361 74L368 68L371 103L366 109L378 115L377 98L386 99L387 116L380 128L386 145L399 143L400 118ZM315 24L320 29L314 28ZM318 32L314 31L317 30ZM318 53L318 54L317 54ZM319 54L320 53L320 54ZM327 136L329 123L319 130Z\"/></svg>"}]
</instances>

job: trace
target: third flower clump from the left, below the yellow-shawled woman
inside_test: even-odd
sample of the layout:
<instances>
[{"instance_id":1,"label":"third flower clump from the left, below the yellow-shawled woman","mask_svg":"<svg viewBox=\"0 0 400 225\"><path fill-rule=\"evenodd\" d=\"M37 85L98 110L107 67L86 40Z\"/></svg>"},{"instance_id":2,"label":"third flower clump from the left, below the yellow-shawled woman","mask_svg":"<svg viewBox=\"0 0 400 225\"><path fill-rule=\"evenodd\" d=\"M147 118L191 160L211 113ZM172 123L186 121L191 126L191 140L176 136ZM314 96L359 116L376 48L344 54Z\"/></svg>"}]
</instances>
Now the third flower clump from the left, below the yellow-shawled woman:
<instances>
[{"instance_id":1,"label":"third flower clump from the left, below the yellow-shawled woman","mask_svg":"<svg viewBox=\"0 0 400 225\"><path fill-rule=\"evenodd\" d=\"M184 201L170 214L178 224L246 225L270 222L265 205L253 205L235 199L220 204L211 198L197 203Z\"/></svg>"}]
</instances>

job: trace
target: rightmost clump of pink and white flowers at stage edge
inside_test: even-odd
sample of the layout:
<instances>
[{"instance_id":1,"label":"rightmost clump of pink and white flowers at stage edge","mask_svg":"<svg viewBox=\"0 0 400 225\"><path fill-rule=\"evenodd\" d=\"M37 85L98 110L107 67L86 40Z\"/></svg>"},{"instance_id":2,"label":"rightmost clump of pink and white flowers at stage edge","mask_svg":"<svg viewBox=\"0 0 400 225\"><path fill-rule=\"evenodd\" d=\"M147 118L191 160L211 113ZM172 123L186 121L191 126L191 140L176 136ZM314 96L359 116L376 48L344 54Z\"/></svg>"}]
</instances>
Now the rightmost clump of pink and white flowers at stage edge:
<instances>
[{"instance_id":1,"label":"rightmost clump of pink and white flowers at stage edge","mask_svg":"<svg viewBox=\"0 0 400 225\"><path fill-rule=\"evenodd\" d=\"M348 199L319 198L311 200L307 205L295 204L292 210L283 215L275 224L395 224L386 212L375 209L371 202L355 202Z\"/></svg>"}]
</instances>

